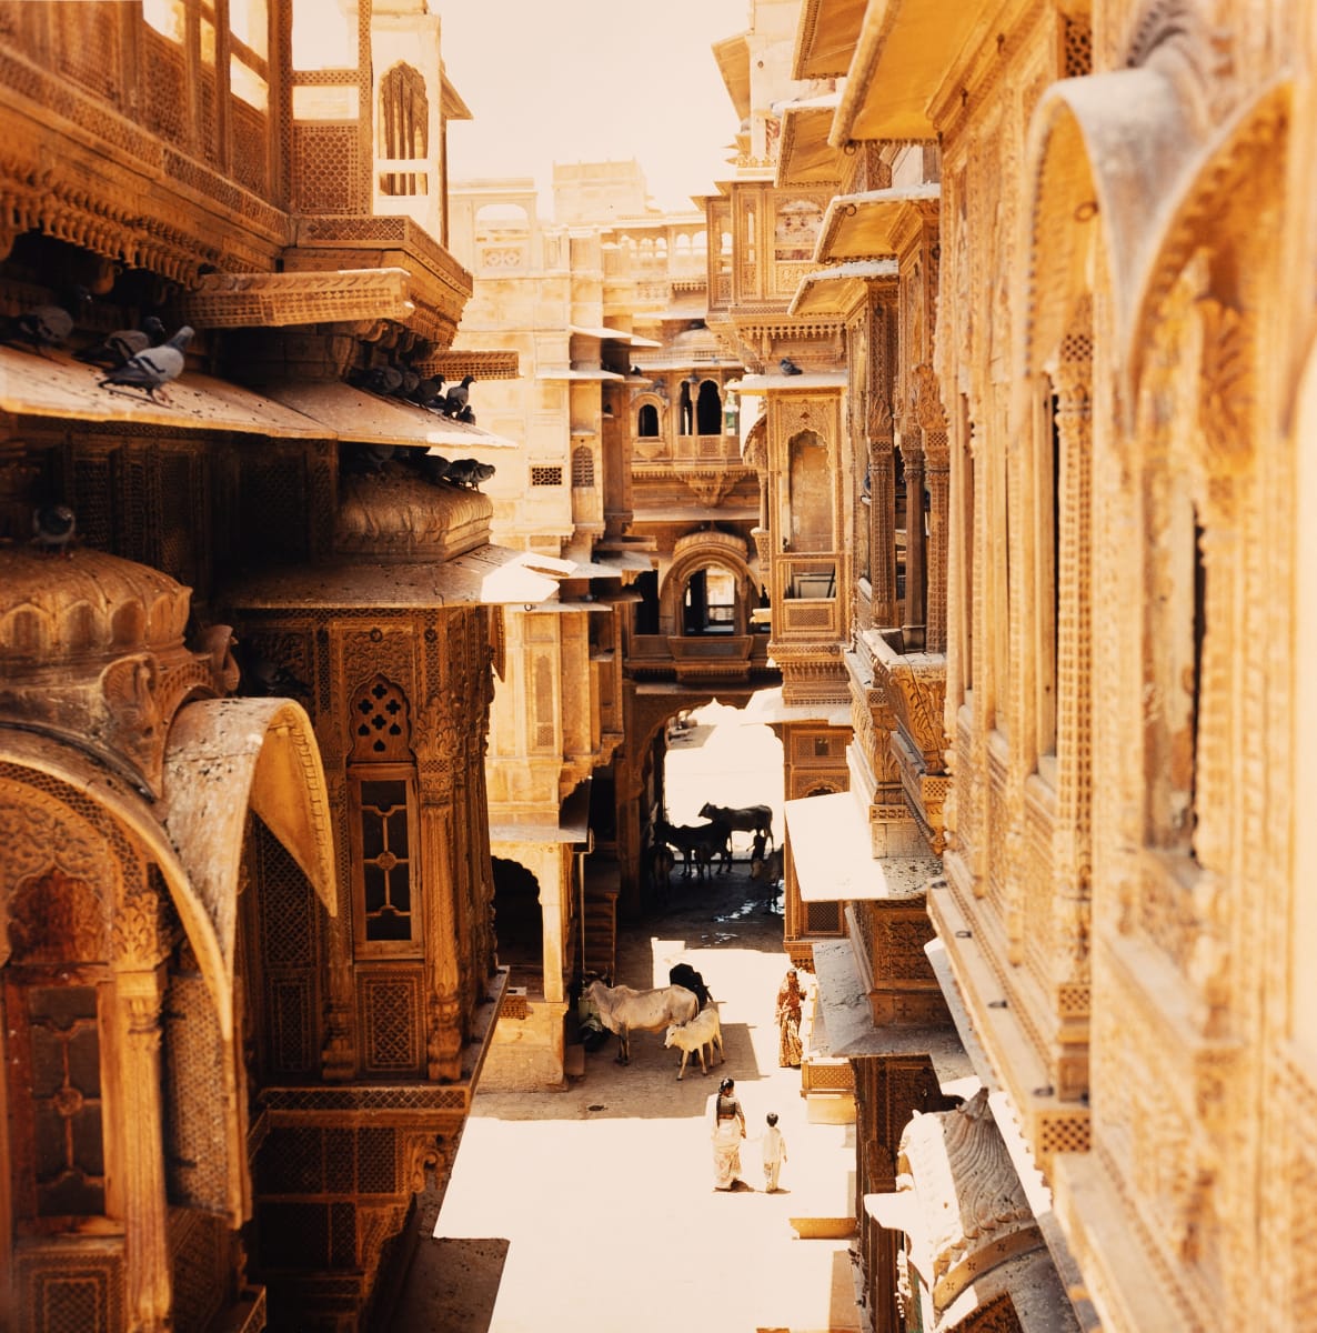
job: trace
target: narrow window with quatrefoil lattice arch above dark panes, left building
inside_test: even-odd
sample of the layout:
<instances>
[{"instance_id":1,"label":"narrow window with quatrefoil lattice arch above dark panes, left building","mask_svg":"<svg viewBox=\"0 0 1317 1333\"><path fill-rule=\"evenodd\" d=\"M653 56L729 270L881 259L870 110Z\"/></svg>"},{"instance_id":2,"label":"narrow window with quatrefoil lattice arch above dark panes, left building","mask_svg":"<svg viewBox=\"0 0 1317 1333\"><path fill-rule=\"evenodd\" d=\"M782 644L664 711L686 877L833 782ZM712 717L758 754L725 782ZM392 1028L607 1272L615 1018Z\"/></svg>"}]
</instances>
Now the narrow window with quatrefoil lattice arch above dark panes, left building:
<instances>
[{"instance_id":1,"label":"narrow window with quatrefoil lattice arch above dark panes, left building","mask_svg":"<svg viewBox=\"0 0 1317 1333\"><path fill-rule=\"evenodd\" d=\"M348 796L356 940L365 953L415 953L421 942L416 901L416 760L407 696L383 676L352 705Z\"/></svg>"}]
</instances>

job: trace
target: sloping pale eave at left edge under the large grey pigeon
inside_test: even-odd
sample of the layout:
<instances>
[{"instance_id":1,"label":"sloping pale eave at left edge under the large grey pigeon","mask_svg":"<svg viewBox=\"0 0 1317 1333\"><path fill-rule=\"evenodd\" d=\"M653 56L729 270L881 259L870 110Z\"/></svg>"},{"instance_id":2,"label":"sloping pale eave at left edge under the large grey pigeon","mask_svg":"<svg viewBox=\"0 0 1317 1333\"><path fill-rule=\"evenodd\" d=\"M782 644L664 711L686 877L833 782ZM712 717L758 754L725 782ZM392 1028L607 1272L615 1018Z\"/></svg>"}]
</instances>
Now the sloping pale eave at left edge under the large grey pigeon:
<instances>
[{"instance_id":1,"label":"sloping pale eave at left edge under the large grey pigeon","mask_svg":"<svg viewBox=\"0 0 1317 1333\"><path fill-rule=\"evenodd\" d=\"M136 389L101 388L104 377L99 367L61 352L37 356L0 347L0 411L111 427L173 427L299 440L333 436L285 404L195 371L184 371L160 401Z\"/></svg>"}]
</instances>

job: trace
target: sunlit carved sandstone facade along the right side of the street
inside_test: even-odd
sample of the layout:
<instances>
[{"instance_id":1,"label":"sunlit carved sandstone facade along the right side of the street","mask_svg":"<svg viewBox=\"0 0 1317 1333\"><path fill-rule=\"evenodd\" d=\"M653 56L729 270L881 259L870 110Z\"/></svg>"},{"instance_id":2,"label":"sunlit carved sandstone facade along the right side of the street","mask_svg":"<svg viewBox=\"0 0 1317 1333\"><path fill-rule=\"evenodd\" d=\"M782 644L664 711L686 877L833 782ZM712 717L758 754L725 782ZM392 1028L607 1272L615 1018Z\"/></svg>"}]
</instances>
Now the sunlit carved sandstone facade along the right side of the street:
<instances>
[{"instance_id":1,"label":"sunlit carved sandstone facade along the right side of the street","mask_svg":"<svg viewBox=\"0 0 1317 1333\"><path fill-rule=\"evenodd\" d=\"M1302 5L1229 17L801 7L796 77L845 75L786 105L776 184L833 183L830 267L792 311L842 321L861 400L852 786L944 857L932 954L996 1089L974 1114L1070 1293L1046 1313L1033 1278L976 1281L957 1308L956 1261L874 1204L876 1328L1314 1317L1317 898L1293 816L1317 716L1294 669L1317 643L1317 33ZM940 1189L920 1176L916 1208Z\"/></svg>"}]
</instances>

